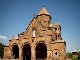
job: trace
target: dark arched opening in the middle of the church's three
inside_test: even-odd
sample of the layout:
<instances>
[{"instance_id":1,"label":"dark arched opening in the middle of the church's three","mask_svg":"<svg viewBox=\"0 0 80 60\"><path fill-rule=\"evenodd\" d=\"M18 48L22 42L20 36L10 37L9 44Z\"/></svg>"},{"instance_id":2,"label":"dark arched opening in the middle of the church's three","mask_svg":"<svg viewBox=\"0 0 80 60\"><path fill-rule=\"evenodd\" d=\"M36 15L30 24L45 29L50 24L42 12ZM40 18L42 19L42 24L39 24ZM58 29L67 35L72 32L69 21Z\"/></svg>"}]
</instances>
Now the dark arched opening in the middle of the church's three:
<instances>
[{"instance_id":1,"label":"dark arched opening in the middle of the church's three","mask_svg":"<svg viewBox=\"0 0 80 60\"><path fill-rule=\"evenodd\" d=\"M31 47L29 44L23 46L23 60L31 60Z\"/></svg>"}]
</instances>

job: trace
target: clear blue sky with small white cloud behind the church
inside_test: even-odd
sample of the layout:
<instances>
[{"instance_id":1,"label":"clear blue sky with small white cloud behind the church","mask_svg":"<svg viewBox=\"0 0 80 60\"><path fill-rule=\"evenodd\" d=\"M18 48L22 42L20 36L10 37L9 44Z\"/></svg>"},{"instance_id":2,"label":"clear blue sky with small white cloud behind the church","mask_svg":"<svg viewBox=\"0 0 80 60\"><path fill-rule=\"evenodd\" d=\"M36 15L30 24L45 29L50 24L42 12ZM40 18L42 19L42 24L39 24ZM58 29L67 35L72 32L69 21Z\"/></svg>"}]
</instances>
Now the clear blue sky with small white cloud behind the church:
<instances>
[{"instance_id":1,"label":"clear blue sky with small white cloud behind the church","mask_svg":"<svg viewBox=\"0 0 80 60\"><path fill-rule=\"evenodd\" d=\"M0 0L0 43L8 45L14 35L26 31L30 21L46 8L51 23L60 22L66 51L80 49L80 0Z\"/></svg>"}]
</instances>

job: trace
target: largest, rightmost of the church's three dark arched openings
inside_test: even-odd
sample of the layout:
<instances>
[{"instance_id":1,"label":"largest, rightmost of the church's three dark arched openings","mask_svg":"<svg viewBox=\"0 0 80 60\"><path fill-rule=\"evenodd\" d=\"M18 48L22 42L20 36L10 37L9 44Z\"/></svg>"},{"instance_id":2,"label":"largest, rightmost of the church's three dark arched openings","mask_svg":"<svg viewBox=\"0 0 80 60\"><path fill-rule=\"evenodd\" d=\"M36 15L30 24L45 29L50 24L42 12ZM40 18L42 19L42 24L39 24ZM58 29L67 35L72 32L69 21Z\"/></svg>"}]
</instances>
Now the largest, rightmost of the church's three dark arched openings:
<instances>
[{"instance_id":1,"label":"largest, rightmost of the church's three dark arched openings","mask_svg":"<svg viewBox=\"0 0 80 60\"><path fill-rule=\"evenodd\" d=\"M47 47L44 43L38 43L36 46L36 60L45 59L47 57Z\"/></svg>"}]
</instances>

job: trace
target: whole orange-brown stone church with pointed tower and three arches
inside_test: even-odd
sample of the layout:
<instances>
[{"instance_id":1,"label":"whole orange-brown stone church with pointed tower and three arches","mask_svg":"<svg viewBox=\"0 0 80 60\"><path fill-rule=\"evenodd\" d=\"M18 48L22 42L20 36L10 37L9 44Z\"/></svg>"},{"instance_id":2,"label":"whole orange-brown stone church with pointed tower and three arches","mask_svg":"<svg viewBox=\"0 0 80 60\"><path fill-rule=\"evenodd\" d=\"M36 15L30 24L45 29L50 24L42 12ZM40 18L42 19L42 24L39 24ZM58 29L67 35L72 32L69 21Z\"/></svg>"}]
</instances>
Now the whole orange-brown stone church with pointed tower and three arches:
<instances>
[{"instance_id":1,"label":"whole orange-brown stone church with pointed tower and three arches","mask_svg":"<svg viewBox=\"0 0 80 60\"><path fill-rule=\"evenodd\" d=\"M9 40L4 47L4 59L66 60L66 42L61 37L60 23L51 24L51 16L42 7L25 32Z\"/></svg>"}]
</instances>

